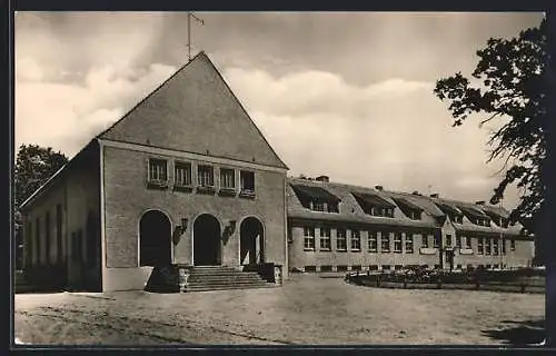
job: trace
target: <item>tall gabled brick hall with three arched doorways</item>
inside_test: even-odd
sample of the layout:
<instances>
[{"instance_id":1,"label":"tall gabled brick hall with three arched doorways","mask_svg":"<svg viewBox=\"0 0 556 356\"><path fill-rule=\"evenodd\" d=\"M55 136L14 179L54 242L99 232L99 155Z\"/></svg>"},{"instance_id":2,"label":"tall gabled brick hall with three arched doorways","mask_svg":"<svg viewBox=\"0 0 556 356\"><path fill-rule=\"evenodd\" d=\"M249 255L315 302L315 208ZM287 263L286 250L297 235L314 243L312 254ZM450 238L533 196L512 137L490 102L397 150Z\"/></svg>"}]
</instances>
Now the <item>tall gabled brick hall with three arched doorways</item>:
<instances>
[{"instance_id":1,"label":"tall gabled brick hall with three arched doorways","mask_svg":"<svg viewBox=\"0 0 556 356\"><path fill-rule=\"evenodd\" d=\"M27 275L121 290L165 265L287 273L286 172L200 52L22 204Z\"/></svg>"}]
</instances>

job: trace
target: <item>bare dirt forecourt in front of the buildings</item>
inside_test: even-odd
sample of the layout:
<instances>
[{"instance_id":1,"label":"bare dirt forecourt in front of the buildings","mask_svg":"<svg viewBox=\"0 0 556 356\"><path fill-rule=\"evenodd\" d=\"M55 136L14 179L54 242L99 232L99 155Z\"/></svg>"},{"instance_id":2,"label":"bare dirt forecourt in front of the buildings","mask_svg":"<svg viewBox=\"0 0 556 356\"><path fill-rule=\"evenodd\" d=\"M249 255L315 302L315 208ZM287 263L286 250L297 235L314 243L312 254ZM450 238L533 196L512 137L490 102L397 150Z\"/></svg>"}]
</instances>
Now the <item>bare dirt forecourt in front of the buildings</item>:
<instances>
[{"instance_id":1,"label":"bare dirt forecourt in front of the buildings","mask_svg":"<svg viewBox=\"0 0 556 356\"><path fill-rule=\"evenodd\" d=\"M538 294L379 289L306 275L277 288L19 294L14 303L14 336L47 345L519 344L542 339L545 314Z\"/></svg>"}]
</instances>

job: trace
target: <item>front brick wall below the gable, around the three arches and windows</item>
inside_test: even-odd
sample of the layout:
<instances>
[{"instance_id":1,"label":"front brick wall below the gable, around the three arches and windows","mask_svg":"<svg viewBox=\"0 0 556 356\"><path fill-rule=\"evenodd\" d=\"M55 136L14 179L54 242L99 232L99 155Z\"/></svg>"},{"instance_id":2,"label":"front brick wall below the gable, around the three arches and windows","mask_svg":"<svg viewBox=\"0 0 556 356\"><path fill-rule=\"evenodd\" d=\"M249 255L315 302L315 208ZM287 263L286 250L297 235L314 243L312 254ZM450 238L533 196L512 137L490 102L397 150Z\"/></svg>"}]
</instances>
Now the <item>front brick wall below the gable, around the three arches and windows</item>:
<instances>
[{"instance_id":1,"label":"front brick wall below the gable, around the three arches and windows","mask_svg":"<svg viewBox=\"0 0 556 356\"><path fill-rule=\"evenodd\" d=\"M285 171L245 168L240 161L205 160L183 158L181 152L155 154L143 148L103 147L105 191L105 290L142 289L151 267L139 266L139 221L149 209L163 211L171 221L171 229L187 219L187 229L177 244L172 244L172 263L192 265L193 224L202 214L210 214L220 222L221 231L236 221L234 234L222 239L222 265L239 266L239 230L246 217L258 218L265 228L265 260L286 264L285 221ZM147 186L149 158L166 159L170 187L153 189ZM197 181L196 165L215 167L215 185L218 191L219 168L236 170L236 187L239 187L239 171L255 171L255 198L222 197L193 191L172 189L173 164L176 160L192 164L192 181Z\"/></svg>"}]
</instances>

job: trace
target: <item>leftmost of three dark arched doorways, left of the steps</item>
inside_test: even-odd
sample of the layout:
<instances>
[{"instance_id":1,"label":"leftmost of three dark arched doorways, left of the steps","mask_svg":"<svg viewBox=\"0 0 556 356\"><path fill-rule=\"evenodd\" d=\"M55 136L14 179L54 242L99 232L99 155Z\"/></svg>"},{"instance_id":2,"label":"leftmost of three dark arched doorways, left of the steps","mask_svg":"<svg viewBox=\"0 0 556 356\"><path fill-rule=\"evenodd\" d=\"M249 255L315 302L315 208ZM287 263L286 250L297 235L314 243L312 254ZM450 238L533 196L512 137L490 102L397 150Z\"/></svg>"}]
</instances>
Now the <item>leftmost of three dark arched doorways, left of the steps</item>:
<instances>
[{"instance_id":1,"label":"leftmost of three dark arched doorways, left of the steps","mask_svg":"<svg viewBox=\"0 0 556 356\"><path fill-rule=\"evenodd\" d=\"M160 210L149 210L139 221L139 261L141 266L171 264L171 222Z\"/></svg>"}]
</instances>

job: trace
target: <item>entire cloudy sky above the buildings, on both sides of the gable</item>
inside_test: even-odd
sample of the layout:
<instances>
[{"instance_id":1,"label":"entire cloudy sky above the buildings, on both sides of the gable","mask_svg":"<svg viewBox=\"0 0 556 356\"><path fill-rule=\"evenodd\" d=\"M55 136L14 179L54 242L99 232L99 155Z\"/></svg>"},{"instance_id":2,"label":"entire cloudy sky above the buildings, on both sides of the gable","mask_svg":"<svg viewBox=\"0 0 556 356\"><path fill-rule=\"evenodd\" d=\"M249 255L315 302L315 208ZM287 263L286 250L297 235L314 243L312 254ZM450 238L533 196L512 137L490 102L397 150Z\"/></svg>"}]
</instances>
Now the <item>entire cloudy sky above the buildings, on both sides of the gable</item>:
<instances>
[{"instance_id":1,"label":"entire cloudy sky above the buildings, on both sides of the gable","mask_svg":"<svg viewBox=\"0 0 556 356\"><path fill-rule=\"evenodd\" d=\"M488 200L490 127L461 127L433 93L469 76L488 38L538 12L196 12L203 50L288 176ZM18 12L14 145L76 155L187 62L186 12ZM512 188L504 206L513 208Z\"/></svg>"}]
</instances>

